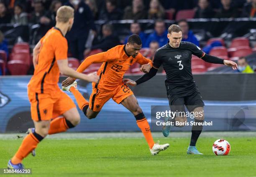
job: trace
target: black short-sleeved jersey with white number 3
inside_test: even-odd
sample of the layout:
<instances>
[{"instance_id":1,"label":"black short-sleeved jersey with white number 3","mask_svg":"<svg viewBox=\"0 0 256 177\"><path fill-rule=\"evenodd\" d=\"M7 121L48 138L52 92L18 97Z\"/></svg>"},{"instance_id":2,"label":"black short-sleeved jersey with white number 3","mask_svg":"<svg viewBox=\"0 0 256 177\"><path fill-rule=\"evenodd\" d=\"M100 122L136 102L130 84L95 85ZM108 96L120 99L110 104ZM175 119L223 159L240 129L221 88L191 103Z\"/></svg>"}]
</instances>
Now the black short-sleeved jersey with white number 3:
<instances>
[{"instance_id":1,"label":"black short-sleeved jersey with white number 3","mask_svg":"<svg viewBox=\"0 0 256 177\"><path fill-rule=\"evenodd\" d=\"M201 58L205 52L191 42L181 42L178 48L167 43L156 51L153 66L159 68L163 65L169 94L186 96L195 91L199 92L191 71L192 55Z\"/></svg>"}]
</instances>

